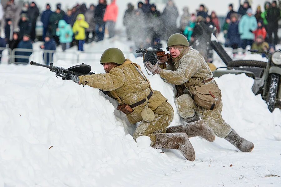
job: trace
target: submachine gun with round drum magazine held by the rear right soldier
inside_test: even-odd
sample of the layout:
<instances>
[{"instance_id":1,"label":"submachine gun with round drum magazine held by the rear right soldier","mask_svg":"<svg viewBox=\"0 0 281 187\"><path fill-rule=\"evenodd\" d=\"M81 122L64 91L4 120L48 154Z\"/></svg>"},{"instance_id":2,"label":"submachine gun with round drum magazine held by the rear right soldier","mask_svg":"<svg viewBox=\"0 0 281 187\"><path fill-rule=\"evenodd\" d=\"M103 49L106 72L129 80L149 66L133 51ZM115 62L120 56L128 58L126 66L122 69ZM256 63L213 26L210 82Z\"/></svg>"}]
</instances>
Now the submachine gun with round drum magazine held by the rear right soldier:
<instances>
[{"instance_id":1,"label":"submachine gun with round drum magazine held by the rear right soldier","mask_svg":"<svg viewBox=\"0 0 281 187\"><path fill-rule=\"evenodd\" d=\"M150 64L155 65L157 63L157 56L165 56L165 51L162 49L137 49L136 53L143 54L143 62L150 62Z\"/></svg>"}]
</instances>

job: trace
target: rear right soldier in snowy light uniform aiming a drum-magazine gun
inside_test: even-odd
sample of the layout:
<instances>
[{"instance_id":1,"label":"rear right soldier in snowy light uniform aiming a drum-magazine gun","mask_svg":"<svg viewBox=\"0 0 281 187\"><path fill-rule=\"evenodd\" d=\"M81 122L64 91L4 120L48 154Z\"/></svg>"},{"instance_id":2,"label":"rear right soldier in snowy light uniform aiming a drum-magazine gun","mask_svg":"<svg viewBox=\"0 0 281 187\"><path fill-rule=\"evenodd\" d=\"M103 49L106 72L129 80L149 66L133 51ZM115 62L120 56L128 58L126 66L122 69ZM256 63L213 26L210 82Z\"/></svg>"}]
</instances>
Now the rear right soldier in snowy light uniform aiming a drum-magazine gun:
<instances>
[{"instance_id":1,"label":"rear right soldier in snowy light uniform aiming a drum-magazine gun","mask_svg":"<svg viewBox=\"0 0 281 187\"><path fill-rule=\"evenodd\" d=\"M146 62L145 65L153 74L159 74L162 79L175 84L175 104L180 117L186 122L197 121L201 117L218 137L225 138L240 151L252 151L254 144L240 137L222 118L221 93L203 56L192 49L186 37L179 33L169 37L167 50L170 55L159 57L158 63L167 62L170 70L161 69L159 64Z\"/></svg>"}]
</instances>

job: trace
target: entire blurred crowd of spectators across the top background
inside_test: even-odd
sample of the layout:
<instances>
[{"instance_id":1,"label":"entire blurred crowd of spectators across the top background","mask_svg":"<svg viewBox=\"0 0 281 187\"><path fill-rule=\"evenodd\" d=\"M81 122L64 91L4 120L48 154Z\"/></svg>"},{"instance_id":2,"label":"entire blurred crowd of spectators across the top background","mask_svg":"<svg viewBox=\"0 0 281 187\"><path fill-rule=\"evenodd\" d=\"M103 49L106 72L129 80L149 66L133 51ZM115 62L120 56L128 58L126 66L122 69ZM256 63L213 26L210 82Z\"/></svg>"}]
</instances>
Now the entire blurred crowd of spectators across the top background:
<instances>
[{"instance_id":1,"label":"entire blurred crowd of spectators across the top background","mask_svg":"<svg viewBox=\"0 0 281 187\"><path fill-rule=\"evenodd\" d=\"M77 4L66 11L63 11L61 4L58 3L54 12L50 4L47 4L46 9L40 14L35 2L24 3L18 11L19 7L14 0L9 0L4 6L2 24L5 29L5 39L0 40L0 47L8 44L11 49L32 49L32 43L37 40L35 31L37 18L41 15L42 39L45 43L40 48L55 50L61 45L64 51L76 45L78 50L83 51L85 42L103 40L106 28L110 38L115 36L118 7L116 0L108 1L110 3L106 0L98 0L97 5L91 4L89 7L85 3ZM245 49L247 45L251 45L252 48L268 49L278 43L277 30L280 18L281 11L276 1L266 1L264 10L259 6L255 13L248 1L245 1L237 12L230 4L225 21L220 23L221 19L216 12L209 11L203 4L192 13L188 7L183 7L183 14L179 15L173 0L167 1L163 12L160 12L155 4L145 0L136 5L127 4L123 24L127 39L133 41L137 48L161 48L160 41L167 40L174 33L184 34L191 44L198 38L204 40L204 36L202 33L200 35L196 28L196 23L204 22L214 35L218 36L221 31L224 33L227 47ZM17 54L30 55L28 52L17 52ZM49 63L49 55L44 58L47 58ZM17 60L27 62L27 59Z\"/></svg>"}]
</instances>

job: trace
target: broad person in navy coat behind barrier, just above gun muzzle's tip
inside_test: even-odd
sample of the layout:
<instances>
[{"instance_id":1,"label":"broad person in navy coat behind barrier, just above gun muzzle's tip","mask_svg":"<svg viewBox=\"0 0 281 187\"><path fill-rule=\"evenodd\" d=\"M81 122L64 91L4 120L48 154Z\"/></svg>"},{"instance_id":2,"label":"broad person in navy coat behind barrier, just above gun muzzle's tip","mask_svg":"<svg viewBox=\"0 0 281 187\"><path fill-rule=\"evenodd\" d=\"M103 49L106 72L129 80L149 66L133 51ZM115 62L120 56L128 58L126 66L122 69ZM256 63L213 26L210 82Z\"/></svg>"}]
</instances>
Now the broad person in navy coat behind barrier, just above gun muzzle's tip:
<instances>
[{"instance_id":1,"label":"broad person in navy coat behind barrier, just above gun muzzle's tip","mask_svg":"<svg viewBox=\"0 0 281 187\"><path fill-rule=\"evenodd\" d=\"M30 36L28 34L24 34L22 40L19 42L19 44L17 45L17 48L21 48L21 49L32 49L32 43L30 41ZM15 55L22 55L22 56L27 56L29 57L32 54L32 51L28 51L28 52L20 52L17 51L15 53ZM20 62L23 64L27 64L29 61L28 58L16 58L15 62Z\"/></svg>"}]
</instances>

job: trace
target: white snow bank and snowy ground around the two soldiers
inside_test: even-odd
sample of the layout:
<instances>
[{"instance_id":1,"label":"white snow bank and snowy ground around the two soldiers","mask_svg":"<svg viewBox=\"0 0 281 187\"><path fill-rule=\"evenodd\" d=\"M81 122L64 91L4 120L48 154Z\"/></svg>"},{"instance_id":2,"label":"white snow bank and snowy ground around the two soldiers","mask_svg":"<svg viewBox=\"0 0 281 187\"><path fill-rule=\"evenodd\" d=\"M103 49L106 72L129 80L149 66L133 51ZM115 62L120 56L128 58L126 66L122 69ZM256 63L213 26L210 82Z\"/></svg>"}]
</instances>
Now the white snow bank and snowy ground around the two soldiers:
<instances>
[{"instance_id":1,"label":"white snow bank and snowy ground around the two soldiers","mask_svg":"<svg viewBox=\"0 0 281 187\"><path fill-rule=\"evenodd\" d=\"M129 50L125 41L113 40L86 45L86 51L112 46ZM65 55L71 51L75 49ZM33 54L30 60L39 57ZM130 58L143 67L140 57ZM102 73L98 62L88 64ZM72 63L60 60L56 65ZM173 87L158 75L148 77L175 110L171 126L180 124ZM145 141L138 146L131 136L135 125L98 89L63 81L45 68L2 63L0 187L281 186L280 110L269 112L261 96L251 91L254 80L245 74L228 74L216 81L225 121L255 148L242 153L222 138L211 143L194 137L190 141L196 159L190 162L177 151L160 153Z\"/></svg>"}]
</instances>

